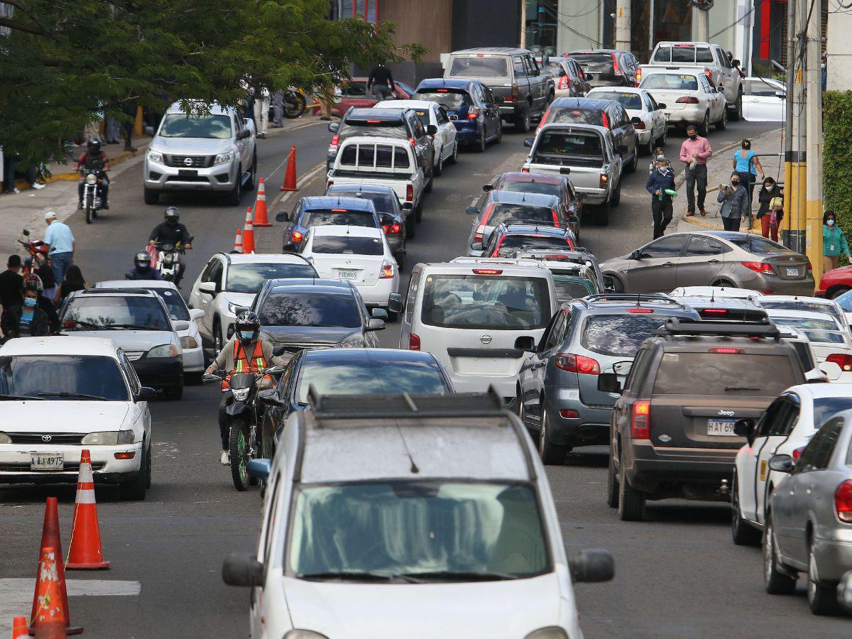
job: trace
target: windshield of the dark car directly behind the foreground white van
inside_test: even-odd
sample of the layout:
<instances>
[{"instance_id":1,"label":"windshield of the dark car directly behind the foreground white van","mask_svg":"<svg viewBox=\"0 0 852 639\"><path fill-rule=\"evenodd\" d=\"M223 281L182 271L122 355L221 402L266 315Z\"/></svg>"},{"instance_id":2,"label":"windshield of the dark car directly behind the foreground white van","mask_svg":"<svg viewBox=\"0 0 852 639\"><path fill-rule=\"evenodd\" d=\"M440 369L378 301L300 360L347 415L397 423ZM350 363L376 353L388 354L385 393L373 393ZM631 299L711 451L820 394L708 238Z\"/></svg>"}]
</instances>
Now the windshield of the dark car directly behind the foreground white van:
<instances>
[{"instance_id":1,"label":"windshield of the dark car directly behind the foreground white van","mask_svg":"<svg viewBox=\"0 0 852 639\"><path fill-rule=\"evenodd\" d=\"M320 395L445 394L444 379L430 361L305 361L296 381L296 401L308 403L308 389Z\"/></svg>"}]
</instances>

